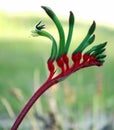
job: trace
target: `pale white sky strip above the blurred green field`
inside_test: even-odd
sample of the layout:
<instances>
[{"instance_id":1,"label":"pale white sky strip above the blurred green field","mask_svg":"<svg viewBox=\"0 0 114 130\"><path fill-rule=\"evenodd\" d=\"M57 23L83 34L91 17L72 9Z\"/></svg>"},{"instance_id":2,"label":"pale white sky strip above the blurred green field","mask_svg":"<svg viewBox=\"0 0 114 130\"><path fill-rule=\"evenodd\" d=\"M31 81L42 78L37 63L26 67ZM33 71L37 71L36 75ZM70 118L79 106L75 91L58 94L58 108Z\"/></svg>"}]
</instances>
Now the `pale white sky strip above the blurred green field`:
<instances>
[{"instance_id":1,"label":"pale white sky strip above the blurred green field","mask_svg":"<svg viewBox=\"0 0 114 130\"><path fill-rule=\"evenodd\" d=\"M0 11L43 13L41 5L51 7L57 15L68 16L71 10L76 18L114 26L114 0L0 0Z\"/></svg>"}]
</instances>

